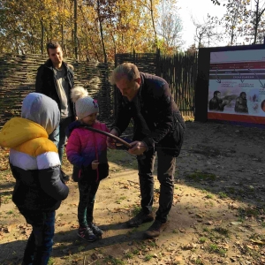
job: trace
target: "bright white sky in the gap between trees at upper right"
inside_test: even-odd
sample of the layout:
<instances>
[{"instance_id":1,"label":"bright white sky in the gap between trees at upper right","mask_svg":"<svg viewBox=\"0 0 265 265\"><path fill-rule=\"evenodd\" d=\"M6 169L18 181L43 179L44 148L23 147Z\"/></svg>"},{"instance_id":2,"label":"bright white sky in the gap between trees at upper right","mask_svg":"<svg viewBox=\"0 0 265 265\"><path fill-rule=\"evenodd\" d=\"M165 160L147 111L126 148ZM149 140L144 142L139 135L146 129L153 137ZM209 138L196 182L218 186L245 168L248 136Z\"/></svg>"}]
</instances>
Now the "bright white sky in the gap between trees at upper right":
<instances>
[{"instance_id":1,"label":"bright white sky in the gap between trees at upper right","mask_svg":"<svg viewBox=\"0 0 265 265\"><path fill-rule=\"evenodd\" d=\"M178 14L183 24L182 39L186 42L183 45L183 49L187 49L194 43L196 27L194 27L191 17L193 16L198 22L203 22L203 19L207 18L208 13L211 16L222 18L226 11L223 4L227 3L227 1L219 0L219 2L221 5L213 4L211 0L178 0L178 7L181 8ZM222 45L225 45L225 43Z\"/></svg>"}]
</instances>

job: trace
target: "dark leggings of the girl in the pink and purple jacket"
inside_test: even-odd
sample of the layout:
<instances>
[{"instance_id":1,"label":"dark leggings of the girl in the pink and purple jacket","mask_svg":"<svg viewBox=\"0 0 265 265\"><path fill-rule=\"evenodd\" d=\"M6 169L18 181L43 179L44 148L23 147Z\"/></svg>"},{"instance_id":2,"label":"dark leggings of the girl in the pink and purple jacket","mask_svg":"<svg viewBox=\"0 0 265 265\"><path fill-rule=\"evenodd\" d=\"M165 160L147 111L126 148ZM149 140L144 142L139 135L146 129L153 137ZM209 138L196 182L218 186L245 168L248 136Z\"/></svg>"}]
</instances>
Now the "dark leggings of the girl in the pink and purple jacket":
<instances>
[{"instance_id":1,"label":"dark leggings of the girl in the pink and purple jacket","mask_svg":"<svg viewBox=\"0 0 265 265\"><path fill-rule=\"evenodd\" d=\"M86 177L89 178L89 176ZM87 227L87 223L93 221L95 193L99 184L100 182L95 182L95 180L89 181L83 178L79 180L79 227Z\"/></svg>"}]
</instances>

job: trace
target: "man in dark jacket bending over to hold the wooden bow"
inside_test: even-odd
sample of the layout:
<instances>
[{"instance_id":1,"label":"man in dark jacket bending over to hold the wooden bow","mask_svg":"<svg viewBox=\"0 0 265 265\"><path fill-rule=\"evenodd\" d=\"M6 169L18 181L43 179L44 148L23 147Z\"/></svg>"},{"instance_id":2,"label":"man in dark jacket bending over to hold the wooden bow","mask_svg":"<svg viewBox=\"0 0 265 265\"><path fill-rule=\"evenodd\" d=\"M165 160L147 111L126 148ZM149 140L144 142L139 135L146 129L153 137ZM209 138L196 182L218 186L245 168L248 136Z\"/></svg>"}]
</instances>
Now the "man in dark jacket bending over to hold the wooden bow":
<instances>
[{"instance_id":1,"label":"man in dark jacket bending over to hold the wooden bow","mask_svg":"<svg viewBox=\"0 0 265 265\"><path fill-rule=\"evenodd\" d=\"M157 153L159 208L155 222L145 231L145 236L152 239L163 230L172 205L176 157L182 146L185 122L164 79L139 72L136 65L125 63L114 69L110 81L120 92L117 117L110 133L119 136L133 118L134 141L129 152L138 155L141 211L128 221L130 227L154 220L153 170ZM115 148L111 138L108 145Z\"/></svg>"}]
</instances>

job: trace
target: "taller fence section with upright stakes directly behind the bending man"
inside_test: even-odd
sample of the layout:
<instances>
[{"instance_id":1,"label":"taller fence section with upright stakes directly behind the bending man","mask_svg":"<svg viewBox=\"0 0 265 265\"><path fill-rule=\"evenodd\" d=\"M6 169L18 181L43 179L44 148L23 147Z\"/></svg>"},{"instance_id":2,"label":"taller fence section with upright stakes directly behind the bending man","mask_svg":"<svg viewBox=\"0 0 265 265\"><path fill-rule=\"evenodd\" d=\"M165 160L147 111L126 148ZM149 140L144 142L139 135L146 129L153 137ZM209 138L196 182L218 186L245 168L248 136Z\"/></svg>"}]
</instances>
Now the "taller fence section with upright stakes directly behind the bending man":
<instances>
[{"instance_id":1,"label":"taller fence section with upright stakes directly behind the bending man","mask_svg":"<svg viewBox=\"0 0 265 265\"><path fill-rule=\"evenodd\" d=\"M136 64L140 72L162 77L169 83L174 101L177 102L182 115L193 117L197 58L197 53L179 53L173 57L166 57L158 50L156 54L117 54L115 65L130 62ZM117 94L115 97L117 98Z\"/></svg>"}]
</instances>

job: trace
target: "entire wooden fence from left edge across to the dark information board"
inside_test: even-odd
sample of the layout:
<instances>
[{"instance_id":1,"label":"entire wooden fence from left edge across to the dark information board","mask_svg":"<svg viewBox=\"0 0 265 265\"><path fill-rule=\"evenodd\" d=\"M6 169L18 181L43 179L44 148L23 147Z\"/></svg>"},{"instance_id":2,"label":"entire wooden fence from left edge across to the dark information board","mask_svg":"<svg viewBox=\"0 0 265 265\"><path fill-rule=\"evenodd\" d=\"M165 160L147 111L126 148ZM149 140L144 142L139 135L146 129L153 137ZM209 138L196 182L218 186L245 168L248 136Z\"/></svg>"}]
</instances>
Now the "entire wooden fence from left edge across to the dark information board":
<instances>
[{"instance_id":1,"label":"entire wooden fence from left edge across to the dark information board","mask_svg":"<svg viewBox=\"0 0 265 265\"><path fill-rule=\"evenodd\" d=\"M42 55L0 55L0 127L14 116L20 115L21 102L34 92L38 67L47 60ZM194 87L197 76L197 54L177 54L164 57L157 53L117 54L115 64L98 62L76 62L66 58L74 67L75 85L86 87L89 95L96 98L100 106L100 119L111 123L116 110L117 93L110 85L110 71L117 64L131 62L141 72L163 77L169 84L179 110L185 116L194 112Z\"/></svg>"}]
</instances>

